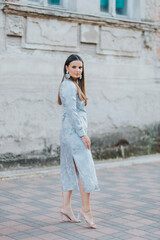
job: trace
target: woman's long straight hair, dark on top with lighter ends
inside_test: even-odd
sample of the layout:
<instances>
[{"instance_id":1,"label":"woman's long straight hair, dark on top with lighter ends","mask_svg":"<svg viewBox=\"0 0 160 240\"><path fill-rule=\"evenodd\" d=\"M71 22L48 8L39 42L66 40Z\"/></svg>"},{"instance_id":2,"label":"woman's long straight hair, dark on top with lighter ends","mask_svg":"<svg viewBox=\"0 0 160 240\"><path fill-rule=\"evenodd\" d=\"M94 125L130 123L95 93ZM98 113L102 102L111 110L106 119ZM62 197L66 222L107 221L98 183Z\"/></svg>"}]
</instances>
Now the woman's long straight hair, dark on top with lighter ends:
<instances>
[{"instance_id":1,"label":"woman's long straight hair, dark on top with lighter ends","mask_svg":"<svg viewBox=\"0 0 160 240\"><path fill-rule=\"evenodd\" d=\"M82 62L82 78L81 79L78 79L78 83L74 80L71 79L68 79L65 75L66 75L66 66L69 66L69 64L72 62L72 61L81 61ZM86 95L86 88L85 88L85 76L84 76L84 62L82 60L82 58L78 55L75 55L75 54L72 54L70 55L65 64L64 64L64 76L62 78L62 81L60 83L60 86L64 80L64 77L67 78L68 80L72 81L76 87L77 87L77 91L78 91L78 97L80 99L80 101L83 101L85 100L85 106L87 105L87 95ZM59 86L59 90L58 90L58 104L59 105L62 105L62 102L61 102L61 98L60 98L60 86Z\"/></svg>"}]
</instances>

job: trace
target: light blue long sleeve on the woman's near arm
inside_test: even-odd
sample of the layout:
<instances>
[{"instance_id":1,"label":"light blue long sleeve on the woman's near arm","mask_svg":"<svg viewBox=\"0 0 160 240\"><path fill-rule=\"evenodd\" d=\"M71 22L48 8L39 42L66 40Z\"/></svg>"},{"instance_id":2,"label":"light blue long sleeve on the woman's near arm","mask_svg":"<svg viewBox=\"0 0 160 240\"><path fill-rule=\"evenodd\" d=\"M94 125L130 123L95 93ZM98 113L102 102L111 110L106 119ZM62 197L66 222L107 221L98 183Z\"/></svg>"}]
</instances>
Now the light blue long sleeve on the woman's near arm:
<instances>
[{"instance_id":1,"label":"light blue long sleeve on the woman's near arm","mask_svg":"<svg viewBox=\"0 0 160 240\"><path fill-rule=\"evenodd\" d=\"M76 107L76 95L77 88L74 83L70 81L65 81L61 85L61 97L65 113L69 117L73 128L76 130L77 134L81 137L86 135L83 129L82 123L79 119Z\"/></svg>"}]
</instances>

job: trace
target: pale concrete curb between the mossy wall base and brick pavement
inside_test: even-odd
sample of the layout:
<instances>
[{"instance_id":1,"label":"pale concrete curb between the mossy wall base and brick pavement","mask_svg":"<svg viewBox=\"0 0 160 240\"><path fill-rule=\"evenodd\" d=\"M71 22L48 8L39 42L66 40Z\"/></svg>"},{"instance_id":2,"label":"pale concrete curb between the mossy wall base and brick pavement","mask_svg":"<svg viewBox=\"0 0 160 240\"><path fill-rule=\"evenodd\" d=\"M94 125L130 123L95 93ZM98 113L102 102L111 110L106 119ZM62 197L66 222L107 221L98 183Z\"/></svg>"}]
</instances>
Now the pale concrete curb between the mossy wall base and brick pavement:
<instances>
[{"instance_id":1,"label":"pale concrete curb between the mossy wall base and brick pavement","mask_svg":"<svg viewBox=\"0 0 160 240\"><path fill-rule=\"evenodd\" d=\"M96 170L105 169L105 168L115 168L115 167L127 167L136 164L148 164L160 162L160 154L154 155L145 155L139 157L130 157L126 159L109 159L109 160L96 160L95 168ZM32 169L23 169L23 170L10 170L0 172L0 181L19 179L19 178L32 178L32 177L41 177L47 175L59 175L60 166L53 167L41 167L41 168L32 168Z\"/></svg>"}]
</instances>

